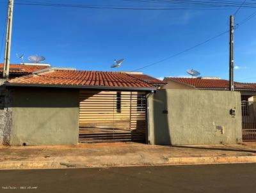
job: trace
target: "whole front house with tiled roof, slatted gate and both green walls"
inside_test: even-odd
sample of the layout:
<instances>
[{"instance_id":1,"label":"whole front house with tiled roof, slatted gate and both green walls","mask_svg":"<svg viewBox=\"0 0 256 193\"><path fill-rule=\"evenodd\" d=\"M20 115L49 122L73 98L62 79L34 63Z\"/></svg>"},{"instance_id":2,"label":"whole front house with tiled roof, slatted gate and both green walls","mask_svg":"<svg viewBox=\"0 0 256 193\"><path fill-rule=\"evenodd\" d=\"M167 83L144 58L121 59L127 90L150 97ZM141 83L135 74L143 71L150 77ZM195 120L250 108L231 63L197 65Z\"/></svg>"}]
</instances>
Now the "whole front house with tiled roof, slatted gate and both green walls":
<instances>
[{"instance_id":1,"label":"whole front house with tiled roof, slatted gate and both green walls","mask_svg":"<svg viewBox=\"0 0 256 193\"><path fill-rule=\"evenodd\" d=\"M10 79L3 85L0 142L11 146L241 142L239 93L157 89L164 84L131 72L58 68ZM230 114L232 109L236 114Z\"/></svg>"}]
</instances>

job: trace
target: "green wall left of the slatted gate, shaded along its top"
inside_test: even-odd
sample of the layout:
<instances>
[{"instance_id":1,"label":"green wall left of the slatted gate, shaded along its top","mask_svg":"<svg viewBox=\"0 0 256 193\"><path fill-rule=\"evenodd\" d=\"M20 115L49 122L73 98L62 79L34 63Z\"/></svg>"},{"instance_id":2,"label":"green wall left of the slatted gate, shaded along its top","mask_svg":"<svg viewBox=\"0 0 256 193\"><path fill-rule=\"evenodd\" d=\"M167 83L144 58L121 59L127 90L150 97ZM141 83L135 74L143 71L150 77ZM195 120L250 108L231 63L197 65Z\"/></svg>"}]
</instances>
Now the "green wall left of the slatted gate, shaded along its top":
<instances>
[{"instance_id":1,"label":"green wall left of the slatted gate, shaded along its top","mask_svg":"<svg viewBox=\"0 0 256 193\"><path fill-rule=\"evenodd\" d=\"M11 146L77 144L79 91L15 88L11 96Z\"/></svg>"}]
</instances>

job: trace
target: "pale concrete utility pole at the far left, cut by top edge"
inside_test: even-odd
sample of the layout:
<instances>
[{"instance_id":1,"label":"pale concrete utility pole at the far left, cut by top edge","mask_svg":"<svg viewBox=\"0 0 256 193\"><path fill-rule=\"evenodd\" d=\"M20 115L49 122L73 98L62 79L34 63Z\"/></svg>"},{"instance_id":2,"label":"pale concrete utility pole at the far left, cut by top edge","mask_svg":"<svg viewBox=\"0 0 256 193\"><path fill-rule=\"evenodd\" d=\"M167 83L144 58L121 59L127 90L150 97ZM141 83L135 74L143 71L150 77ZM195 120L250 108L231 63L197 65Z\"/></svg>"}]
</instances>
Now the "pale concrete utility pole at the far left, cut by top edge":
<instances>
[{"instance_id":1,"label":"pale concrete utility pole at the far left, cut by top edge","mask_svg":"<svg viewBox=\"0 0 256 193\"><path fill-rule=\"evenodd\" d=\"M4 70L3 70L4 79L8 79L9 77L10 52L11 52L11 40L12 40L12 15L13 15L13 0L9 0L7 26L6 26L6 41L5 41L5 51L4 51Z\"/></svg>"}]
</instances>

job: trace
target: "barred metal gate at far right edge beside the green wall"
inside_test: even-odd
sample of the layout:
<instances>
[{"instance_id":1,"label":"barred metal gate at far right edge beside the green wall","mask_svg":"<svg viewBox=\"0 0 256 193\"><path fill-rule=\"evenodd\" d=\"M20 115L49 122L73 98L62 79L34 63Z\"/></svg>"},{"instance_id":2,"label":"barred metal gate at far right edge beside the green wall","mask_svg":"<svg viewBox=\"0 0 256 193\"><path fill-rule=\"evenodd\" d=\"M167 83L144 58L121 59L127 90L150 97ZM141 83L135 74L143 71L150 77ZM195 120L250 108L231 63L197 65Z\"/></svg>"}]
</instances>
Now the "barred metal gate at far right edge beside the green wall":
<instances>
[{"instance_id":1,"label":"barred metal gate at far right edge beside the green wall","mask_svg":"<svg viewBox=\"0 0 256 193\"><path fill-rule=\"evenodd\" d=\"M256 141L256 102L242 102L243 141Z\"/></svg>"}]
</instances>

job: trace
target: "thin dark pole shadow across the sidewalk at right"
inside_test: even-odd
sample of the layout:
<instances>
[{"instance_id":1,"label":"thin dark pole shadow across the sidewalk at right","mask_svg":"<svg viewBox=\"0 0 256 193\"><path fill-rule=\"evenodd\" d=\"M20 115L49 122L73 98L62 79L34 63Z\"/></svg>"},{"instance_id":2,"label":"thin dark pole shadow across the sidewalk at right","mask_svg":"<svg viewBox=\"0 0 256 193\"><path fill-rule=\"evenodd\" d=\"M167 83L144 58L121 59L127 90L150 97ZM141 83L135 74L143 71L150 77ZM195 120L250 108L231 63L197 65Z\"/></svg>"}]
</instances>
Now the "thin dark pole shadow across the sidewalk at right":
<instances>
[{"instance_id":1,"label":"thin dark pole shadow across the sidewalk at right","mask_svg":"<svg viewBox=\"0 0 256 193\"><path fill-rule=\"evenodd\" d=\"M182 145L172 145L173 148L189 148L189 149L197 149L197 150L221 150L221 151L242 151L242 152L248 152L248 153L256 153L256 150L243 150L241 148L236 148L234 146L228 146L225 144L222 144L223 146L227 148L214 148L214 147L195 147L195 146L182 146ZM233 149L230 149L233 148Z\"/></svg>"}]
</instances>

